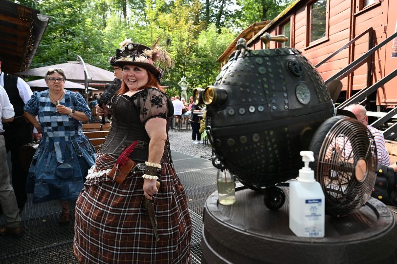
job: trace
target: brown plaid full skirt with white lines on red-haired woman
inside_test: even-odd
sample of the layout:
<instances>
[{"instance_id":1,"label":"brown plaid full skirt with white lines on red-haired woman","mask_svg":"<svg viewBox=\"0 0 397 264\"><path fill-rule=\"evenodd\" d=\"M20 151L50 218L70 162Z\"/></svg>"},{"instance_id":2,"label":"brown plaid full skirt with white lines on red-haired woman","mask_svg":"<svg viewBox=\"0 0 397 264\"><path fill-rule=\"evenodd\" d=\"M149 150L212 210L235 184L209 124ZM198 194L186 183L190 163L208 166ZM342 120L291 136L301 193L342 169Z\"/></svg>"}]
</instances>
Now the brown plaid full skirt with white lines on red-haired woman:
<instances>
[{"instance_id":1,"label":"brown plaid full skirt with white lines on red-haired woman","mask_svg":"<svg viewBox=\"0 0 397 264\"><path fill-rule=\"evenodd\" d=\"M174 168L162 163L154 213L160 240L143 204L139 164L123 184L107 173L117 157L102 154L88 171L75 209L74 253L80 263L191 263L192 223L185 191Z\"/></svg>"}]
</instances>

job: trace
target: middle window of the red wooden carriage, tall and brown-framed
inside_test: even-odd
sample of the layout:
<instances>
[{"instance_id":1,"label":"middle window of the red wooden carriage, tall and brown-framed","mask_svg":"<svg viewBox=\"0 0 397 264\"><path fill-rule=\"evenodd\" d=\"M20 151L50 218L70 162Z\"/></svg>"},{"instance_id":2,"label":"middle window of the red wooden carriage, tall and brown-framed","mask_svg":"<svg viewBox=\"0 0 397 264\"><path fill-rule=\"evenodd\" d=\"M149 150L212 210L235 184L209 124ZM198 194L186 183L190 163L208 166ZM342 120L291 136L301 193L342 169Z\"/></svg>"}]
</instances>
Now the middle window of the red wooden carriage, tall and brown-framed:
<instances>
[{"instance_id":1,"label":"middle window of the red wooden carriage, tall and brown-framed","mask_svg":"<svg viewBox=\"0 0 397 264\"><path fill-rule=\"evenodd\" d=\"M310 6L310 42L326 37L327 0L318 0Z\"/></svg>"}]
</instances>

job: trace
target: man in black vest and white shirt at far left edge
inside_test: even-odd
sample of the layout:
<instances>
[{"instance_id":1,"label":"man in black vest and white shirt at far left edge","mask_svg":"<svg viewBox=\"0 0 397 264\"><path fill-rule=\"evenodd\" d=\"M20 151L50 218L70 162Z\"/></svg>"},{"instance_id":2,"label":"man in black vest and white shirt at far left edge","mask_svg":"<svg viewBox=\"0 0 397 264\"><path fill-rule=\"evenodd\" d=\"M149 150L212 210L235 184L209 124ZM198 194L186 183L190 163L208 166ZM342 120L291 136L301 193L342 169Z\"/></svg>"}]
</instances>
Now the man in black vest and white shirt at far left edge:
<instances>
[{"instance_id":1,"label":"man in black vest and white shirt at far left edge","mask_svg":"<svg viewBox=\"0 0 397 264\"><path fill-rule=\"evenodd\" d=\"M27 200L25 185L28 171L22 170L20 149L22 145L32 141L32 125L23 118L23 106L33 93L29 85L21 78L4 73L1 70L2 62L0 58L0 85L6 90L15 111L14 121L3 125L5 148L7 153L11 152L12 185L18 207L22 210ZM36 139L41 138L38 133L34 136Z\"/></svg>"}]
</instances>

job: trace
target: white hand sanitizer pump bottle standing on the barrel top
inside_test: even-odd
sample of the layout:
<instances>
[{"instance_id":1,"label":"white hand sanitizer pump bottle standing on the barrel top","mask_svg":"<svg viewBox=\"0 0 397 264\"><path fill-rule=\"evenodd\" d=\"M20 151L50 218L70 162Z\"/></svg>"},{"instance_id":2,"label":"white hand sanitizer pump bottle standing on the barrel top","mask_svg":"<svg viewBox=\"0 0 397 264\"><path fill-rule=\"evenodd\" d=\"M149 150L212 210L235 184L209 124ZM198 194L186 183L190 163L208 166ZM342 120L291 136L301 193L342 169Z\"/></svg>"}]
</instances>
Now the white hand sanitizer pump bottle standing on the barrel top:
<instances>
[{"instance_id":1,"label":"white hand sanitizer pump bottle standing on the barrel top","mask_svg":"<svg viewBox=\"0 0 397 264\"><path fill-rule=\"evenodd\" d=\"M298 237L324 237L324 193L309 167L313 152L301 151L301 156L305 166L289 183L289 228Z\"/></svg>"}]
</instances>

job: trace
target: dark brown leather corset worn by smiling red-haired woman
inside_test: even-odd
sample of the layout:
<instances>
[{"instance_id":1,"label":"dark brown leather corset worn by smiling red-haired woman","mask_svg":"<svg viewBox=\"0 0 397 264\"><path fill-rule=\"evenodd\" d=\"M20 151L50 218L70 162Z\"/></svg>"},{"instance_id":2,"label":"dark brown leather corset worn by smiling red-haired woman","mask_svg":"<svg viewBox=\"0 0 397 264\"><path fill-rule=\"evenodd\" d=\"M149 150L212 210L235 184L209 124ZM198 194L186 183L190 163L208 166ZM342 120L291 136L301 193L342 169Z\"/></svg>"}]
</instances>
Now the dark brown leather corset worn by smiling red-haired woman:
<instances>
[{"instance_id":1,"label":"dark brown leather corset worn by smiling red-haired woman","mask_svg":"<svg viewBox=\"0 0 397 264\"><path fill-rule=\"evenodd\" d=\"M99 153L120 155L134 141L141 141L129 156L134 161L147 161L150 138L139 119L137 106L126 96L115 96L111 108L111 129Z\"/></svg>"}]
</instances>

